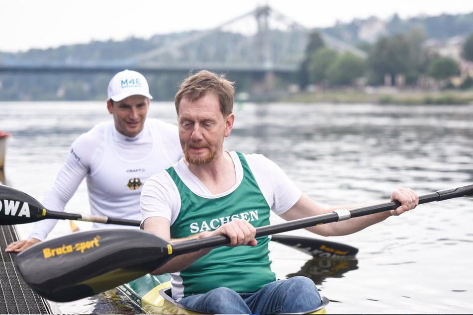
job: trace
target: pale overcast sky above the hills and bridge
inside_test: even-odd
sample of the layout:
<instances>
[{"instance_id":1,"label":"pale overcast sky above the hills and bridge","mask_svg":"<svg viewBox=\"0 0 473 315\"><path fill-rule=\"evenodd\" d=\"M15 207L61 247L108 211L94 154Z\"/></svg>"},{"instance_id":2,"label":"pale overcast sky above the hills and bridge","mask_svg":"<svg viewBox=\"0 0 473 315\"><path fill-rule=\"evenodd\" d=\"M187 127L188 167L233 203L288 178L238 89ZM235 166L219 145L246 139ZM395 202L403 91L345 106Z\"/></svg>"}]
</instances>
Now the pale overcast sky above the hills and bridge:
<instances>
[{"instance_id":1,"label":"pale overcast sky above the hills and bridge","mask_svg":"<svg viewBox=\"0 0 473 315\"><path fill-rule=\"evenodd\" d=\"M309 28L394 13L473 12L472 0L0 0L0 51L211 29L262 4Z\"/></svg>"}]
</instances>

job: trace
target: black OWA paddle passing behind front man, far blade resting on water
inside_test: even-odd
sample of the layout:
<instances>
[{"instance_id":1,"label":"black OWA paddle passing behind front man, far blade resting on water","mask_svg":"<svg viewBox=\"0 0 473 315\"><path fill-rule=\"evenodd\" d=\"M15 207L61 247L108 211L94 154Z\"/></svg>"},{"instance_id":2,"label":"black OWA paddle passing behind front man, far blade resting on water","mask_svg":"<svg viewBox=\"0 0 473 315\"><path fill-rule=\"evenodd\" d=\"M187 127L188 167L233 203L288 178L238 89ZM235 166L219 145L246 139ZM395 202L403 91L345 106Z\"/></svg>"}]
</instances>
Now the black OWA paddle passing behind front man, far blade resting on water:
<instances>
[{"instance_id":1,"label":"black OWA paddle passing behind front man, far blade resting on water","mask_svg":"<svg viewBox=\"0 0 473 315\"><path fill-rule=\"evenodd\" d=\"M106 224L140 226L138 220L118 219L96 215L82 215L46 209L38 200L17 189L0 185L0 225L36 222L44 219L79 220ZM293 246L314 257L351 257L358 249L333 241L299 236L276 236L284 245Z\"/></svg>"}]
</instances>

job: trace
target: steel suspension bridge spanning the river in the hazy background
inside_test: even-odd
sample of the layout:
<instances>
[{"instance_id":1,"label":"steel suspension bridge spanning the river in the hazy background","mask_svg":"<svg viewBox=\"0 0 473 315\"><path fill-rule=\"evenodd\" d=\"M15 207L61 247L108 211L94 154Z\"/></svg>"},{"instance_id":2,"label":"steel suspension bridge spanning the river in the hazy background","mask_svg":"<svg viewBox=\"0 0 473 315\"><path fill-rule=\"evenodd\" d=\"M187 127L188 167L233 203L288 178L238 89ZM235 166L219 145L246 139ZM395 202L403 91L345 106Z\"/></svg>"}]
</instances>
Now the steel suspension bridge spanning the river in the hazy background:
<instances>
[{"instance_id":1,"label":"steel suspension bridge spanning the river in the hazy background","mask_svg":"<svg viewBox=\"0 0 473 315\"><path fill-rule=\"evenodd\" d=\"M54 61L0 60L0 74L115 73L133 69L142 73L176 74L201 69L263 78L272 89L274 76L294 74L299 67L310 30L268 5L204 31L123 60ZM227 40L223 40L223 39ZM228 38L232 44L228 44ZM337 51L366 54L327 34L327 46ZM273 86L274 87L274 86Z\"/></svg>"}]
</instances>

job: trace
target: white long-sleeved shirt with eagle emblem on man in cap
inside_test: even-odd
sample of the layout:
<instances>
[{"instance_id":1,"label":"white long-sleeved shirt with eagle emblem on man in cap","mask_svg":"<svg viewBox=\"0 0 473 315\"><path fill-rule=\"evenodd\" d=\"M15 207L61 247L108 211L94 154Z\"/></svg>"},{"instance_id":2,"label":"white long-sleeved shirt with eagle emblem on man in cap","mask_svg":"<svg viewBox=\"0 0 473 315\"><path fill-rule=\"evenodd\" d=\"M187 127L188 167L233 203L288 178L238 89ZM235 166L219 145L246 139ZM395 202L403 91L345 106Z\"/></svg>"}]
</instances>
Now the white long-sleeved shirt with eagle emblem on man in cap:
<instances>
[{"instance_id":1,"label":"white long-sleeved shirt with eagle emblem on man in cap","mask_svg":"<svg viewBox=\"0 0 473 315\"><path fill-rule=\"evenodd\" d=\"M64 211L84 177L91 214L141 221L140 193L144 182L183 157L178 127L147 118L134 138L120 134L113 122L99 123L79 136L42 204ZM45 239L57 220L35 223L29 237ZM94 228L112 228L94 223Z\"/></svg>"}]
</instances>

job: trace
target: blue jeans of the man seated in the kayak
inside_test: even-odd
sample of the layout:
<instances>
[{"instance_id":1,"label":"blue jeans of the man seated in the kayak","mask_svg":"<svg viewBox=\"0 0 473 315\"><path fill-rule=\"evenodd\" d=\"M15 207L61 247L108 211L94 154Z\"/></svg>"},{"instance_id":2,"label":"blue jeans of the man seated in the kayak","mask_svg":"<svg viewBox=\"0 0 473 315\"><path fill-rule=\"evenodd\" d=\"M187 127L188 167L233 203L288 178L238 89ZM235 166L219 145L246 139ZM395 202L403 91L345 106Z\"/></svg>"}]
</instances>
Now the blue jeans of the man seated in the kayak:
<instances>
[{"instance_id":1,"label":"blue jeans of the man seated in the kayak","mask_svg":"<svg viewBox=\"0 0 473 315\"><path fill-rule=\"evenodd\" d=\"M271 282L253 293L220 287L179 301L207 314L287 314L310 312L322 304L314 282L303 276Z\"/></svg>"}]
</instances>

